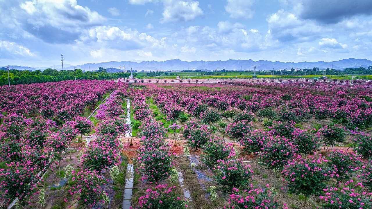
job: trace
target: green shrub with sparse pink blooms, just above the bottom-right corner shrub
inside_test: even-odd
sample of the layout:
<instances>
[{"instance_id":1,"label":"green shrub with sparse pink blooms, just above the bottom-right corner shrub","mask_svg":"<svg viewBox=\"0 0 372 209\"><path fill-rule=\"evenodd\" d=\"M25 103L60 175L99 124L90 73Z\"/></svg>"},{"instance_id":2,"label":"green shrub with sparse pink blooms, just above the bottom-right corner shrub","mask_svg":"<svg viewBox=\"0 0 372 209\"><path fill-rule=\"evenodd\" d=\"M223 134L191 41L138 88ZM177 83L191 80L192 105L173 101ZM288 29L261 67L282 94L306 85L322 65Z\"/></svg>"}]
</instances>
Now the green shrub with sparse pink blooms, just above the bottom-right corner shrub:
<instances>
[{"instance_id":1,"label":"green shrub with sparse pink blooms, just above the bottom-right corner shrub","mask_svg":"<svg viewBox=\"0 0 372 209\"><path fill-rule=\"evenodd\" d=\"M362 166L361 155L341 150L331 151L327 156L328 165L335 170L334 178L338 181L349 179Z\"/></svg>"}]
</instances>

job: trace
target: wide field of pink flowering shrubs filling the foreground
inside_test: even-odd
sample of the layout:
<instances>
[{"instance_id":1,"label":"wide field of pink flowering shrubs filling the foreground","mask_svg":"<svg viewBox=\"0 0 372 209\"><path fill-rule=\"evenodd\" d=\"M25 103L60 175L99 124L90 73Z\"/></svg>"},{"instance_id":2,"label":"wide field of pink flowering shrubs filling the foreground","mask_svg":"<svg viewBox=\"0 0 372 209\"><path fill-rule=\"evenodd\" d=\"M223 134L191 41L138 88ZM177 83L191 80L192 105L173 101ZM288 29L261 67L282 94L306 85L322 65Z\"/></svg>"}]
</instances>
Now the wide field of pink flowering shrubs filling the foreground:
<instances>
[{"instance_id":1,"label":"wide field of pink flowering shrubs filling the foreground","mask_svg":"<svg viewBox=\"0 0 372 209\"><path fill-rule=\"evenodd\" d=\"M370 209L372 85L349 83L0 87L0 208Z\"/></svg>"}]
</instances>

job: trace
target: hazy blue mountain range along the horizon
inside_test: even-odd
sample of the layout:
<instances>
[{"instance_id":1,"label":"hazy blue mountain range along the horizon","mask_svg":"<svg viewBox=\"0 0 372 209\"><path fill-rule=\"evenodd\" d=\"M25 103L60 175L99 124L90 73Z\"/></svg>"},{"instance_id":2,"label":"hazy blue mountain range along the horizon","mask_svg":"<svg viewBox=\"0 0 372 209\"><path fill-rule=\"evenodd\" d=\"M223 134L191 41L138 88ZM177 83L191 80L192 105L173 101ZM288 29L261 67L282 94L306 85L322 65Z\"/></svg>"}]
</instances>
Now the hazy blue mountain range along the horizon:
<instances>
[{"instance_id":1,"label":"hazy blue mountain range along the horizon","mask_svg":"<svg viewBox=\"0 0 372 209\"><path fill-rule=\"evenodd\" d=\"M117 68L120 70L133 70L149 71L149 70L163 70L163 71L180 71L184 70L253 70L256 67L256 70L275 70L285 69L288 70L291 68L314 68L318 67L319 69L323 68L334 68L334 69L344 69L344 68L358 68L364 67L368 68L372 66L371 60L366 59L355 59L348 58L339 61L332 62L279 62L279 61L266 61L266 60L226 60L226 61L182 61L179 59L167 60L167 61L142 61L142 62L132 62L132 61L110 61L110 62L100 62L100 63L87 63L83 65L68 65L64 64L64 70L73 70L74 68L81 69L84 71L93 71L98 70L99 67L103 68ZM55 66L57 70L62 70L60 65ZM125 68L124 68L125 67ZM28 66L16 66L12 65L9 68L18 69L18 70L37 70L38 67L28 67ZM45 69L45 68L41 68Z\"/></svg>"}]
</instances>

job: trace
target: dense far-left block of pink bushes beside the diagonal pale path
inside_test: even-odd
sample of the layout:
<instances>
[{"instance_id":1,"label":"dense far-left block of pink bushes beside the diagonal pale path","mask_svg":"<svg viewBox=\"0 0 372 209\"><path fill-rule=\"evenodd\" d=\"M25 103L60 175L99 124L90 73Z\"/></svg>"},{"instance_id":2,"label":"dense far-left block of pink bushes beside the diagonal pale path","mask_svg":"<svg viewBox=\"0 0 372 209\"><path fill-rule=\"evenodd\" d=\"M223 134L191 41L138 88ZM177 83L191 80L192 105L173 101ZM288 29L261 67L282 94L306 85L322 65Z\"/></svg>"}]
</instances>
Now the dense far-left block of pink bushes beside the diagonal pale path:
<instances>
[{"instance_id":1,"label":"dense far-left block of pink bushes beside the diagonal pale path","mask_svg":"<svg viewBox=\"0 0 372 209\"><path fill-rule=\"evenodd\" d=\"M43 116L58 124L93 107L115 82L80 80L0 87L1 112Z\"/></svg>"}]
</instances>

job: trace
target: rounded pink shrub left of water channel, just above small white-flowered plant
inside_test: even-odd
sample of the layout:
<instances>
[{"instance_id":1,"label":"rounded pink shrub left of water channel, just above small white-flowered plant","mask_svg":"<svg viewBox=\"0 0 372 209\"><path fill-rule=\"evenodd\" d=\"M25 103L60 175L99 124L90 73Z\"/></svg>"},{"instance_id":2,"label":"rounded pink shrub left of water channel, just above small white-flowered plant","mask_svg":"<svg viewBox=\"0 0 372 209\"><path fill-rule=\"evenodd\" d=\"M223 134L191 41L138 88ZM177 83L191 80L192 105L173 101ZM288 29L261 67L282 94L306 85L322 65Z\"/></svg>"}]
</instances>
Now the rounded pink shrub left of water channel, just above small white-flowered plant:
<instances>
[{"instance_id":1,"label":"rounded pink shrub left of water channel, just above small white-flowered plant","mask_svg":"<svg viewBox=\"0 0 372 209\"><path fill-rule=\"evenodd\" d=\"M105 145L92 142L89 147L84 148L81 156L81 166L89 170L96 170L99 173L120 163L120 151L113 149L108 143Z\"/></svg>"}]
</instances>

